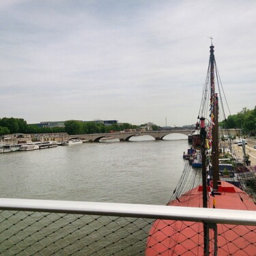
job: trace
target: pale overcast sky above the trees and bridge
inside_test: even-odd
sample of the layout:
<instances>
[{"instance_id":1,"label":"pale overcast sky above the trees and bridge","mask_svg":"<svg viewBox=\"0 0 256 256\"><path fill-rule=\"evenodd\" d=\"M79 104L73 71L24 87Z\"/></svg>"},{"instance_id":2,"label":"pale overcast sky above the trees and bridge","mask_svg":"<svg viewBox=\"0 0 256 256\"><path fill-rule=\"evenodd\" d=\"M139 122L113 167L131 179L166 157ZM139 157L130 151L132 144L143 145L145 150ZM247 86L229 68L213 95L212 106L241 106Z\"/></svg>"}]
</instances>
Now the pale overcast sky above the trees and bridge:
<instances>
[{"instance_id":1,"label":"pale overcast sky above the trees and bridge","mask_svg":"<svg viewBox=\"0 0 256 256\"><path fill-rule=\"evenodd\" d=\"M210 39L231 114L256 104L256 1L0 1L0 118L195 124Z\"/></svg>"}]
</instances>

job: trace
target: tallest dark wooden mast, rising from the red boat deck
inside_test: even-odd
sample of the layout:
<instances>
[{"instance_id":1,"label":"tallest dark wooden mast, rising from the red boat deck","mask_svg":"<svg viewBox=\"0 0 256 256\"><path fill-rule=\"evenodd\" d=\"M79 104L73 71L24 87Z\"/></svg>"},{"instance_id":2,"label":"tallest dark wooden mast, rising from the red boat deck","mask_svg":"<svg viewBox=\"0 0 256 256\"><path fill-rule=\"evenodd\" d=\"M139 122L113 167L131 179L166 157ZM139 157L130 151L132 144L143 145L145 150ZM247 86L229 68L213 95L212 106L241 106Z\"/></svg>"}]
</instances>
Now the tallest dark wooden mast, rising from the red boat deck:
<instances>
[{"instance_id":1,"label":"tallest dark wooden mast, rising from the red boat deck","mask_svg":"<svg viewBox=\"0 0 256 256\"><path fill-rule=\"evenodd\" d=\"M211 103L212 109L212 181L214 190L218 190L218 94L215 93L215 59L214 46L210 46L210 83L211 83Z\"/></svg>"}]
</instances>

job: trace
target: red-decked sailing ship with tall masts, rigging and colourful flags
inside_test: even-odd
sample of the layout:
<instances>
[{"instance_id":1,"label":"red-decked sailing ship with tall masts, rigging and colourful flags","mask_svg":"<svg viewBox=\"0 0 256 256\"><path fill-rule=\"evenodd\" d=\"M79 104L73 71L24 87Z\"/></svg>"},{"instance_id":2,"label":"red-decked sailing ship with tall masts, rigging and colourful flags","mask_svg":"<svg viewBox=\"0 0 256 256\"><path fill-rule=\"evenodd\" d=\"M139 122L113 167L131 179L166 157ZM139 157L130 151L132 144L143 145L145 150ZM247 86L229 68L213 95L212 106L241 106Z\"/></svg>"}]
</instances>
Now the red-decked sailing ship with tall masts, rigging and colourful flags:
<instances>
[{"instance_id":1,"label":"red-decked sailing ship with tall masts, rigging and colourful flags","mask_svg":"<svg viewBox=\"0 0 256 256\"><path fill-rule=\"evenodd\" d=\"M201 173L185 163L182 177L167 205L256 211L253 197L219 175L220 152L236 168L234 147L219 147L218 116L225 120L214 46L210 46L208 74L198 115ZM222 89L222 90L221 90ZM217 93L218 91L218 93ZM210 104L208 103L210 102ZM208 106L210 107L208 108ZM190 182L188 182L190 180ZM188 221L156 220L147 238L145 255L255 255L256 227L208 225ZM253 253L254 252L254 253Z\"/></svg>"}]
</instances>

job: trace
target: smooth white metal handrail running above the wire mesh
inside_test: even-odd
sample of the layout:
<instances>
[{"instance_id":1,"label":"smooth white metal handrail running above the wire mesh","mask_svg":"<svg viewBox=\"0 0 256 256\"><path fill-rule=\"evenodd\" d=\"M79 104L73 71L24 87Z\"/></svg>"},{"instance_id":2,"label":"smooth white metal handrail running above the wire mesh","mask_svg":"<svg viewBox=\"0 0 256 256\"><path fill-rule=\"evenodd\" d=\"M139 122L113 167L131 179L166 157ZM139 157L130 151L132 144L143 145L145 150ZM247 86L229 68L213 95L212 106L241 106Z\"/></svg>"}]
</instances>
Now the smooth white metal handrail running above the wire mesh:
<instances>
[{"instance_id":1,"label":"smooth white metal handrail running above the wire mesh","mask_svg":"<svg viewBox=\"0 0 256 256\"><path fill-rule=\"evenodd\" d=\"M1 198L0 210L256 225L255 211L188 208L167 205Z\"/></svg>"}]
</instances>

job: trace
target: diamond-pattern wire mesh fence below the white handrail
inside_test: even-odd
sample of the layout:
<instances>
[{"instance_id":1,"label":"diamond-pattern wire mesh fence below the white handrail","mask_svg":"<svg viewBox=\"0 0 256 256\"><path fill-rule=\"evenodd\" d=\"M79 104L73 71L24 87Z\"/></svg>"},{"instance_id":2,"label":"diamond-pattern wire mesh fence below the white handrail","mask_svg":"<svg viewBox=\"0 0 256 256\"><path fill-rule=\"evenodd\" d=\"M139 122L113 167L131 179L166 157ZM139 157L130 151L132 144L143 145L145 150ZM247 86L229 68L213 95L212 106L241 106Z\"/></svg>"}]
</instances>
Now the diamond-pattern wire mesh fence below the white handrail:
<instances>
[{"instance_id":1,"label":"diamond-pattern wire mesh fence below the white handrail","mask_svg":"<svg viewBox=\"0 0 256 256\"><path fill-rule=\"evenodd\" d=\"M256 255L256 226L209 229L210 255ZM1 210L0 255L203 255L203 223Z\"/></svg>"}]
</instances>

